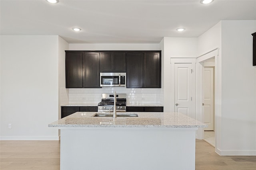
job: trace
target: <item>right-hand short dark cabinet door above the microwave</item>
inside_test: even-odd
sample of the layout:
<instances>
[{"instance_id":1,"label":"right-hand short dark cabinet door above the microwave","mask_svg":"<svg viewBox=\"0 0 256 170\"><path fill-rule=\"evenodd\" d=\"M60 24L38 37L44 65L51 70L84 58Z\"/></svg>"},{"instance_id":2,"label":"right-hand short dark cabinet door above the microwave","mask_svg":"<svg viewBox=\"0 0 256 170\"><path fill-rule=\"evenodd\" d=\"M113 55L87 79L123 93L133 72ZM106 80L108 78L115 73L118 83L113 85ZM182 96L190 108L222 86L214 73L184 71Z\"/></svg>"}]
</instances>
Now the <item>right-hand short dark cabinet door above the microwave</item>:
<instances>
[{"instance_id":1,"label":"right-hand short dark cabinet door above the microwave","mask_svg":"<svg viewBox=\"0 0 256 170\"><path fill-rule=\"evenodd\" d=\"M113 72L126 72L126 56L125 53L112 53L114 58L114 71Z\"/></svg>"}]
</instances>

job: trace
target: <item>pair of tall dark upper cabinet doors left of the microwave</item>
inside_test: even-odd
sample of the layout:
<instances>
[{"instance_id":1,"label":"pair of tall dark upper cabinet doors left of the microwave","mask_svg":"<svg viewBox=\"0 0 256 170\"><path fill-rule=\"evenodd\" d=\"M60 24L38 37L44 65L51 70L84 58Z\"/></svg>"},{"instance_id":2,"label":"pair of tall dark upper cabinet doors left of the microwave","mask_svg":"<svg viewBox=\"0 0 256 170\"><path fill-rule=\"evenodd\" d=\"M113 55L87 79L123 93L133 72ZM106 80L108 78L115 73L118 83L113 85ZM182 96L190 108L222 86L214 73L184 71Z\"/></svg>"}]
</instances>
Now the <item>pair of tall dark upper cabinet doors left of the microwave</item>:
<instances>
[{"instance_id":1,"label":"pair of tall dark upper cabinet doors left of the microwave","mask_svg":"<svg viewBox=\"0 0 256 170\"><path fill-rule=\"evenodd\" d=\"M66 51L66 88L100 88L100 53Z\"/></svg>"}]
</instances>

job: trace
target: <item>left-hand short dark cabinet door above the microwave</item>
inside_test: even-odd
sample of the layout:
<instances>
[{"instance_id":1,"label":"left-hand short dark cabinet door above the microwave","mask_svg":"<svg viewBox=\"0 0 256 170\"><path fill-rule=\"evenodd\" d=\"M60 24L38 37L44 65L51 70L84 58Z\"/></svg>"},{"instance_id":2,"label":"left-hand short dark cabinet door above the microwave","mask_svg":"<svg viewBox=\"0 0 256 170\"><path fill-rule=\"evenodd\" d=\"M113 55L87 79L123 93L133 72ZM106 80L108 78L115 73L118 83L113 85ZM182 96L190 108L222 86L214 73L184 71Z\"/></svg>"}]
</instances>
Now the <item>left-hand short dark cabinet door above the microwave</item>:
<instances>
[{"instance_id":1,"label":"left-hand short dark cabinet door above the microwave","mask_svg":"<svg viewBox=\"0 0 256 170\"><path fill-rule=\"evenodd\" d=\"M112 72L114 70L114 57L111 53L100 53L100 72Z\"/></svg>"}]
</instances>

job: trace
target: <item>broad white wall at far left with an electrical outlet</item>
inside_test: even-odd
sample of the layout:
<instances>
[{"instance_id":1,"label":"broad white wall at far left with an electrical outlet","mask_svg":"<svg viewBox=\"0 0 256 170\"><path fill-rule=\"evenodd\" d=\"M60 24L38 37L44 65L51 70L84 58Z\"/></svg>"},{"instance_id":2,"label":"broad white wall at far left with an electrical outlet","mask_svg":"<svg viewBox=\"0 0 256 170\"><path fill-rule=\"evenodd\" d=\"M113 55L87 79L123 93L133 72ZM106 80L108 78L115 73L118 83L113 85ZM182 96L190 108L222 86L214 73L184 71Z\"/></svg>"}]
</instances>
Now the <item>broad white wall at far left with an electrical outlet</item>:
<instances>
[{"instance_id":1,"label":"broad white wall at far left with an electrical outlet","mask_svg":"<svg viewBox=\"0 0 256 170\"><path fill-rule=\"evenodd\" d=\"M0 64L1 140L58 139L58 36L1 35Z\"/></svg>"}]
</instances>

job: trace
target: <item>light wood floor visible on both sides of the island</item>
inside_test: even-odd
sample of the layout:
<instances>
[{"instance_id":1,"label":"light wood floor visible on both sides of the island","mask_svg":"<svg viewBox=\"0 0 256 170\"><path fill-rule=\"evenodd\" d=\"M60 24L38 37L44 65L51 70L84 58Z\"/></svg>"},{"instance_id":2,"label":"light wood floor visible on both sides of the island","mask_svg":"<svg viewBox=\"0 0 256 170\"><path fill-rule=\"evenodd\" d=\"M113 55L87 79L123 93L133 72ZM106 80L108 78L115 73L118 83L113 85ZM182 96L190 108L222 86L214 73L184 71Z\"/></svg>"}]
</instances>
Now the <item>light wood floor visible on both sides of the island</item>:
<instances>
[{"instance_id":1,"label":"light wood floor visible on both sides of the island","mask_svg":"<svg viewBox=\"0 0 256 170\"><path fill-rule=\"evenodd\" d=\"M184 162L186 163L186 162ZM0 141L1 170L59 170L59 141ZM256 170L256 156L219 156L196 140L196 170Z\"/></svg>"}]
</instances>

